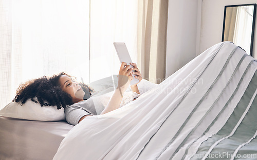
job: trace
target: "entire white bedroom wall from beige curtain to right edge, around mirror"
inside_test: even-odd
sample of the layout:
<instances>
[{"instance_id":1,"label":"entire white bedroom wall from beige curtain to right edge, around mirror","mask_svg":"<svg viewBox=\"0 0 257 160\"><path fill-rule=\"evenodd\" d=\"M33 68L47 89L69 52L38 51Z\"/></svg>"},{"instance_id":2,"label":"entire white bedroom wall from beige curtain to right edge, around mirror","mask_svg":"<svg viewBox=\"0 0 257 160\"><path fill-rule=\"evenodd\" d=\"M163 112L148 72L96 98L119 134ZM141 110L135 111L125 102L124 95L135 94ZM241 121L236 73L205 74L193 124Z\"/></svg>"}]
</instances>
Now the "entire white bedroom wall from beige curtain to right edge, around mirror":
<instances>
[{"instance_id":1,"label":"entire white bedroom wall from beige curtain to right edge, around mirror","mask_svg":"<svg viewBox=\"0 0 257 160\"><path fill-rule=\"evenodd\" d=\"M224 7L256 0L170 0L167 29L166 77L195 56L222 41ZM257 18L257 16L256 16ZM253 57L257 58L257 19Z\"/></svg>"}]
</instances>

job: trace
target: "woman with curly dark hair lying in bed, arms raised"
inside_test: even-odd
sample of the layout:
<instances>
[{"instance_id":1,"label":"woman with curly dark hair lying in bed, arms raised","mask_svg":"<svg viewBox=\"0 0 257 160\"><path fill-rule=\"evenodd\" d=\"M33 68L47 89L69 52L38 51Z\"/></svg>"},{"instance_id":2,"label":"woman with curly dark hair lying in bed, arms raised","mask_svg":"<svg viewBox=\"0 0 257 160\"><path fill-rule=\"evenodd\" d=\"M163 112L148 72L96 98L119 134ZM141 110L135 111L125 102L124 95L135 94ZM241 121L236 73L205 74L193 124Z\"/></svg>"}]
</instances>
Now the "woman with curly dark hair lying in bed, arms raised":
<instances>
[{"instance_id":1,"label":"woman with curly dark hair lying in bed, arms raised","mask_svg":"<svg viewBox=\"0 0 257 160\"><path fill-rule=\"evenodd\" d=\"M139 79L139 82L142 80L137 65L134 63L131 65L134 68L130 68L130 65L126 65L124 62L121 64L118 86L100 114L111 112L120 107L123 94L133 79L132 73L136 75L135 78ZM135 92L135 98L140 94L137 84L131 85L132 91ZM62 72L50 78L43 76L21 84L13 101L24 104L27 99L31 99L35 103L39 102L41 106L57 106L58 109L63 107L66 121L76 125L87 116L97 115L95 107L87 106L85 103L93 91L87 85L78 84L70 75Z\"/></svg>"}]
</instances>

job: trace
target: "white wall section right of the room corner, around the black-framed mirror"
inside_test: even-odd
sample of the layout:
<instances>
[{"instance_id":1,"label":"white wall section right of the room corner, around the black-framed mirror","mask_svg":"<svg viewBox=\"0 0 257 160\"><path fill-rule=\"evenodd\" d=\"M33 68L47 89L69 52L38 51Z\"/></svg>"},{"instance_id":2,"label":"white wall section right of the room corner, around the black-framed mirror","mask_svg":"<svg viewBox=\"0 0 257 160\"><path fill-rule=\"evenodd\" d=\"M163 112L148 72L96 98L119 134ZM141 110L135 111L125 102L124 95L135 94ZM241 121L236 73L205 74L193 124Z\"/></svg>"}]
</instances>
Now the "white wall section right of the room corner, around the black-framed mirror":
<instances>
[{"instance_id":1,"label":"white wall section right of the room corner, around the black-framed mirror","mask_svg":"<svg viewBox=\"0 0 257 160\"><path fill-rule=\"evenodd\" d=\"M201 29L199 53L222 41L224 7L227 5L241 5L257 3L256 0L203 0L201 11ZM256 20L255 20L256 21ZM255 24L255 28L256 28ZM253 57L257 57L257 30L255 29ZM196 53L197 54L197 53Z\"/></svg>"}]
</instances>

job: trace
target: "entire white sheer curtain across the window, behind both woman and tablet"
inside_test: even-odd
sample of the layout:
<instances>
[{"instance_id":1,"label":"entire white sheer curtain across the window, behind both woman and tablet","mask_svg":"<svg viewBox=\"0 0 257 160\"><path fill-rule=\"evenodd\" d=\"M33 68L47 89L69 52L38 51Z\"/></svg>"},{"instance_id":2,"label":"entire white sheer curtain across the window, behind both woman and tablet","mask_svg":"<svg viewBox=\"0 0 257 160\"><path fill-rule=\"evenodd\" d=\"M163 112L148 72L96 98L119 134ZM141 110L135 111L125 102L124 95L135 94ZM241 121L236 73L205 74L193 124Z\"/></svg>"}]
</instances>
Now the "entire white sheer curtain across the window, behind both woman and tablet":
<instances>
[{"instance_id":1,"label":"entire white sheer curtain across the window, behind both woman and tablet","mask_svg":"<svg viewBox=\"0 0 257 160\"><path fill-rule=\"evenodd\" d=\"M136 59L137 1L0 0L0 109L20 83L59 72L118 74L113 42Z\"/></svg>"}]
</instances>

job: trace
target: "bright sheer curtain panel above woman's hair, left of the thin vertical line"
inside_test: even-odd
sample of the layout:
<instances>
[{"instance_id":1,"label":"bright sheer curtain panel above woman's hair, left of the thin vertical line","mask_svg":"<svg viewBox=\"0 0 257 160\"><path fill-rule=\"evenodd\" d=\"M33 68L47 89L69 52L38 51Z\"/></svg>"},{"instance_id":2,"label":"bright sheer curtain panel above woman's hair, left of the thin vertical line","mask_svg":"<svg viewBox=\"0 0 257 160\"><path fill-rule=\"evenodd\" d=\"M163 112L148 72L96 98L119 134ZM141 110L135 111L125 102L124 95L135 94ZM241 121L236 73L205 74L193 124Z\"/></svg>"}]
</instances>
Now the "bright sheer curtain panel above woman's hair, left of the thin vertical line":
<instances>
[{"instance_id":1,"label":"bright sheer curtain panel above woman's hair, left of the thin vertical line","mask_svg":"<svg viewBox=\"0 0 257 160\"><path fill-rule=\"evenodd\" d=\"M0 0L0 109L20 83L67 72L89 83L89 0Z\"/></svg>"}]
</instances>

